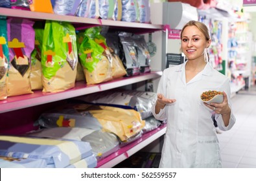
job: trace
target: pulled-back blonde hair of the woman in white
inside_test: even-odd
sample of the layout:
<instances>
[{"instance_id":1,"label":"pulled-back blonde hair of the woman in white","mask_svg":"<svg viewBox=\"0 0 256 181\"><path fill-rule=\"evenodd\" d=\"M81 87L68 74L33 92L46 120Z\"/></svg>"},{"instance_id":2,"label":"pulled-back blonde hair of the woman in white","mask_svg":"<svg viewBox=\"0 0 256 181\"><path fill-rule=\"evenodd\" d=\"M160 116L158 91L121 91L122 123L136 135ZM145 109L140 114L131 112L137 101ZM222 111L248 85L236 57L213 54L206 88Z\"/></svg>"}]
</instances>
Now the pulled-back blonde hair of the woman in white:
<instances>
[{"instance_id":1,"label":"pulled-back blonde hair of the woman in white","mask_svg":"<svg viewBox=\"0 0 256 181\"><path fill-rule=\"evenodd\" d=\"M182 28L182 30L180 32L180 39L182 39L182 34L183 34L184 29L186 27L191 27L191 26L196 26L200 30L200 32L202 32L204 34L206 41L209 41L211 39L209 29L206 27L206 25L200 21L194 21L194 20L189 21L188 23L186 23L184 25L184 27ZM209 61L209 53L208 53L207 49L205 49L205 61Z\"/></svg>"}]
</instances>

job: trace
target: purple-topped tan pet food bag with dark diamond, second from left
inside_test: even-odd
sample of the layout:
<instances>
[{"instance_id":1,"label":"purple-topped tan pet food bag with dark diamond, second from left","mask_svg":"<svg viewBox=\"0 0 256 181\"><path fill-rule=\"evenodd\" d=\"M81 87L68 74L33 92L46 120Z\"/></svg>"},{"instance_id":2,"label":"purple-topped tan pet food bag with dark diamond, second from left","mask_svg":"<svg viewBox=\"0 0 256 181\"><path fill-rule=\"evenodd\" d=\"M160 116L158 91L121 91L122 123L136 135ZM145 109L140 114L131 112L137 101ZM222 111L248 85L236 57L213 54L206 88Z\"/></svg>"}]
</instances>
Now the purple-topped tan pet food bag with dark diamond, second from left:
<instances>
[{"instance_id":1,"label":"purple-topped tan pet food bag with dark diamond, second from left","mask_svg":"<svg viewBox=\"0 0 256 181\"><path fill-rule=\"evenodd\" d=\"M8 19L8 96L33 93L30 87L30 54L34 50L34 22L27 19Z\"/></svg>"}]
</instances>

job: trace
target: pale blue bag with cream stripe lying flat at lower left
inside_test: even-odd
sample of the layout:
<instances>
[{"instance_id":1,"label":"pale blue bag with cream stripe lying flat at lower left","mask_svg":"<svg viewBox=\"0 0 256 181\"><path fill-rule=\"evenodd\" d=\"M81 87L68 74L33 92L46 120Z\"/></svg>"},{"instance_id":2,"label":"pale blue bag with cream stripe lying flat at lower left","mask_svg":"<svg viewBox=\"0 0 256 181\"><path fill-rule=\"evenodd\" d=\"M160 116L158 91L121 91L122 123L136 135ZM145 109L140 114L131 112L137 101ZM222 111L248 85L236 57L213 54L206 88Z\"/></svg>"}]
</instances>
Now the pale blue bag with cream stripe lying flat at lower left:
<instances>
[{"instance_id":1,"label":"pale blue bag with cream stripe lying flat at lower left","mask_svg":"<svg viewBox=\"0 0 256 181\"><path fill-rule=\"evenodd\" d=\"M91 156L91 146L76 140L0 136L0 156L45 160L51 167L67 167Z\"/></svg>"}]
</instances>

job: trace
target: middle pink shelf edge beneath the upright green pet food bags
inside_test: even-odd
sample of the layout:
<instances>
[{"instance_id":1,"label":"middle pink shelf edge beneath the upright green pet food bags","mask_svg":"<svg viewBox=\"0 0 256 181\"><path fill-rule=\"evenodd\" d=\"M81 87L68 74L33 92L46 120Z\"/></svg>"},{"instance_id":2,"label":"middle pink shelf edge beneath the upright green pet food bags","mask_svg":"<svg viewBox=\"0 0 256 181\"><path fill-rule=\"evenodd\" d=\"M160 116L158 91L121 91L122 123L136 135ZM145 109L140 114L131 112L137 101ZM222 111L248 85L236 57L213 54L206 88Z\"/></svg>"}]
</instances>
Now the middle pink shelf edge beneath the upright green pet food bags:
<instances>
[{"instance_id":1,"label":"middle pink shelf edge beneath the upright green pet food bags","mask_svg":"<svg viewBox=\"0 0 256 181\"><path fill-rule=\"evenodd\" d=\"M43 103L49 103L58 100L65 100L67 98L74 98L76 96L91 94L93 92L106 91L124 85L137 83L139 81L159 78L161 74L161 71L150 72L146 74L141 74L139 76L123 77L117 80L108 81L106 83L100 83L97 85L86 85L84 81L79 81L76 83L75 88L63 92L48 93L42 92L40 90L34 91L33 94L8 97L6 100L0 101L0 113L14 111L25 107L32 107L34 105L40 105Z\"/></svg>"}]
</instances>

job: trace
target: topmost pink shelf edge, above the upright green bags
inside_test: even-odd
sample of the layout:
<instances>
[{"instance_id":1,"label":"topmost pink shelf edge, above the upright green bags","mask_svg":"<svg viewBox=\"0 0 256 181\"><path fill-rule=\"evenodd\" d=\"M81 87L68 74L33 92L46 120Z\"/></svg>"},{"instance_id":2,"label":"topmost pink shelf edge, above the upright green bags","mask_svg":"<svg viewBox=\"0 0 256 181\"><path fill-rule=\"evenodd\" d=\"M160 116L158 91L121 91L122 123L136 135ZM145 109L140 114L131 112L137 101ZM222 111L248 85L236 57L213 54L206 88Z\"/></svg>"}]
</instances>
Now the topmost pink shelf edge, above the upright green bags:
<instances>
[{"instance_id":1,"label":"topmost pink shelf edge, above the upright green bags","mask_svg":"<svg viewBox=\"0 0 256 181\"><path fill-rule=\"evenodd\" d=\"M22 11L22 12L21 12ZM45 19L54 20L54 21L67 21L75 24L76 29L84 29L94 26L106 25L115 30L127 30L134 33L146 33L162 30L162 25L152 25L149 23L134 23L126 21L113 21L107 19L93 19L86 17L77 17L77 16L65 16L59 14L50 14L43 12L31 12L27 10L18 10L10 8L0 8L0 16L8 17L18 17L18 18L27 18L32 20L41 20Z\"/></svg>"}]
</instances>

